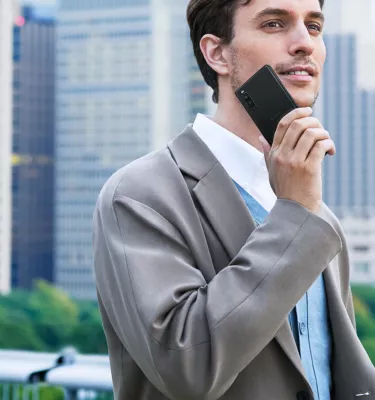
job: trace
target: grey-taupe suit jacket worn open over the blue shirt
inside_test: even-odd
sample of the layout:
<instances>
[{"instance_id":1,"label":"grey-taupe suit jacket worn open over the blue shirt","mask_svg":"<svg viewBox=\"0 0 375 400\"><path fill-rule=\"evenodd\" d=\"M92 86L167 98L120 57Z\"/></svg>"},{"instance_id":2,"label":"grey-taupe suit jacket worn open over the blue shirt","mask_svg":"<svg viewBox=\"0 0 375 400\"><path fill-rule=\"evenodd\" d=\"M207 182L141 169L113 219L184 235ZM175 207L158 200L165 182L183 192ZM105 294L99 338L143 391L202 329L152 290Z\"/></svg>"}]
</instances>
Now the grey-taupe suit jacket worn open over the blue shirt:
<instances>
[{"instance_id":1,"label":"grey-taupe suit jacket worn open over the blue shirt","mask_svg":"<svg viewBox=\"0 0 375 400\"><path fill-rule=\"evenodd\" d=\"M312 399L287 316L322 272L332 399L375 399L335 216L278 200L256 228L190 126L105 184L94 264L116 399Z\"/></svg>"}]
</instances>

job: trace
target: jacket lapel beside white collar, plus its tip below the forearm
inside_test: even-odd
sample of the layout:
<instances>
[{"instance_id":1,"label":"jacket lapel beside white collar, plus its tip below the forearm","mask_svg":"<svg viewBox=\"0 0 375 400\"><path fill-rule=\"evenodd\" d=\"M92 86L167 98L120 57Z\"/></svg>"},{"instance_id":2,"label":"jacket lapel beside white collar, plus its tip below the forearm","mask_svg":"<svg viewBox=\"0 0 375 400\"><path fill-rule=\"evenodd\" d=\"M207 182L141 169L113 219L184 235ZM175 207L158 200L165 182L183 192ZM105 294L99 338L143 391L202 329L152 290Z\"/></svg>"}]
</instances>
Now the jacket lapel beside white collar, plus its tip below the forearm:
<instances>
[{"instance_id":1,"label":"jacket lapel beside white collar, plus its tip below the forearm","mask_svg":"<svg viewBox=\"0 0 375 400\"><path fill-rule=\"evenodd\" d=\"M197 179L193 193L233 260L256 225L232 179L191 126L168 147L181 171ZM308 385L287 318L275 339Z\"/></svg>"}]
</instances>

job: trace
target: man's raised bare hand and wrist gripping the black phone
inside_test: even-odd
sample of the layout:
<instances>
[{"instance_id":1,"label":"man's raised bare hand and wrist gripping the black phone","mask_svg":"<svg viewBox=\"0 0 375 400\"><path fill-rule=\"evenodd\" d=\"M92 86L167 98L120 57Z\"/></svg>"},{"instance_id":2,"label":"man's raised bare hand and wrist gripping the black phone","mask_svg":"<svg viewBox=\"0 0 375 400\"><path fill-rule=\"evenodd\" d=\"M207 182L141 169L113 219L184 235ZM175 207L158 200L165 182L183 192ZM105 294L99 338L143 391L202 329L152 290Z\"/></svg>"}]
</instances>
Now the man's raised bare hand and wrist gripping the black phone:
<instances>
[{"instance_id":1,"label":"man's raised bare hand and wrist gripping the black phone","mask_svg":"<svg viewBox=\"0 0 375 400\"><path fill-rule=\"evenodd\" d=\"M279 199L295 201L312 212L322 203L322 161L335 145L311 108L298 108L279 123L272 147L260 137L271 186Z\"/></svg>"}]
</instances>

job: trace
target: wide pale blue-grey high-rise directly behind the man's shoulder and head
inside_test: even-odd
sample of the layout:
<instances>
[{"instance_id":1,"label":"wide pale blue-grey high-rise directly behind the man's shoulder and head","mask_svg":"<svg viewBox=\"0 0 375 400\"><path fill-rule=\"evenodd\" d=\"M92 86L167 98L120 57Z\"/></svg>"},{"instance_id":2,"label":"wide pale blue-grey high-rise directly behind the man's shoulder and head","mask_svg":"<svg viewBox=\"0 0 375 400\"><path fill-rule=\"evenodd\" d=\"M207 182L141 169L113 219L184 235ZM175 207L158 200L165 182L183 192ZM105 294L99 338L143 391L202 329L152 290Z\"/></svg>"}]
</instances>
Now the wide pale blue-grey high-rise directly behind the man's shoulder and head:
<instances>
[{"instance_id":1,"label":"wide pale blue-grey high-rise directly behind the man's shoulder and head","mask_svg":"<svg viewBox=\"0 0 375 400\"><path fill-rule=\"evenodd\" d=\"M199 83L190 80L186 4L60 2L55 267L58 286L74 297L96 298L91 221L102 185L191 120Z\"/></svg>"}]
</instances>

